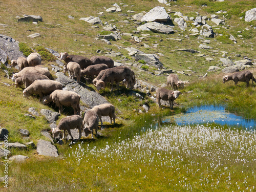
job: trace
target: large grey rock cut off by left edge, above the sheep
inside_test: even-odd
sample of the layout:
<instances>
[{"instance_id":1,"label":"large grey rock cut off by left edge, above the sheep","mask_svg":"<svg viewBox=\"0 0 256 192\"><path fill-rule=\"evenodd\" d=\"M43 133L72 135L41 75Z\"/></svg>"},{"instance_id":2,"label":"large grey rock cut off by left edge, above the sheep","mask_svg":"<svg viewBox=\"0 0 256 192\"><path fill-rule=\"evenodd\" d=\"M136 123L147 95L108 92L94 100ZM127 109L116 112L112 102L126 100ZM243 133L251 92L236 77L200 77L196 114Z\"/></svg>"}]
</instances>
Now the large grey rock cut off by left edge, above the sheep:
<instances>
[{"instance_id":1,"label":"large grey rock cut off by left edge, above the sheep","mask_svg":"<svg viewBox=\"0 0 256 192\"><path fill-rule=\"evenodd\" d=\"M25 57L23 53L19 51L18 41L0 34L0 61L6 64L7 57L12 60L22 56Z\"/></svg>"}]
</instances>

